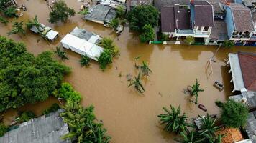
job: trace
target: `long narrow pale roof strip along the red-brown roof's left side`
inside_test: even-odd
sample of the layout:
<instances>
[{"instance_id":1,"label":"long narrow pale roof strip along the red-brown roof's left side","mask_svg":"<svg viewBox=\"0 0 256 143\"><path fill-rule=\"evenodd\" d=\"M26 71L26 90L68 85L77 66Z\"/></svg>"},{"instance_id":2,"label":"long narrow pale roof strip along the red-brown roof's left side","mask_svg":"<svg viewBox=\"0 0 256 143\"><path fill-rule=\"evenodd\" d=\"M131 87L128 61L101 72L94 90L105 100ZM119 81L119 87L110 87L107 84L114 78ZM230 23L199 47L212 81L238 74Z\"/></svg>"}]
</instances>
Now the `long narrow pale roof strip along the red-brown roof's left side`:
<instances>
[{"instance_id":1,"label":"long narrow pale roof strip along the red-brown roof's left side","mask_svg":"<svg viewBox=\"0 0 256 143\"><path fill-rule=\"evenodd\" d=\"M242 78L242 71L241 71L238 55L229 53L229 63L230 63L230 69L232 72L234 90L240 91L245 87L244 87L244 80Z\"/></svg>"}]
</instances>

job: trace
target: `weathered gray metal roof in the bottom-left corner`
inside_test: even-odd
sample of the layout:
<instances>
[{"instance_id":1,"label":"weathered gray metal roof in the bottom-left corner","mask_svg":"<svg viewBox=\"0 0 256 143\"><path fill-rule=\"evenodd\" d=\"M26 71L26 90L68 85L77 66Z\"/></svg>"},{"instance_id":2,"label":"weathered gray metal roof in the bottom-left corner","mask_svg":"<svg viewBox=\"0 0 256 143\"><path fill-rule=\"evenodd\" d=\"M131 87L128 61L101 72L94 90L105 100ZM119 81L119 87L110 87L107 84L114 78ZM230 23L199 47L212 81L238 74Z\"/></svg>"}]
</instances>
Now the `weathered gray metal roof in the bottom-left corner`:
<instances>
[{"instance_id":1,"label":"weathered gray metal roof in the bottom-left corner","mask_svg":"<svg viewBox=\"0 0 256 143\"><path fill-rule=\"evenodd\" d=\"M19 124L0 138L1 143L70 143L70 140L60 139L68 133L68 125L60 117L61 109L55 113L31 119Z\"/></svg>"}]
</instances>

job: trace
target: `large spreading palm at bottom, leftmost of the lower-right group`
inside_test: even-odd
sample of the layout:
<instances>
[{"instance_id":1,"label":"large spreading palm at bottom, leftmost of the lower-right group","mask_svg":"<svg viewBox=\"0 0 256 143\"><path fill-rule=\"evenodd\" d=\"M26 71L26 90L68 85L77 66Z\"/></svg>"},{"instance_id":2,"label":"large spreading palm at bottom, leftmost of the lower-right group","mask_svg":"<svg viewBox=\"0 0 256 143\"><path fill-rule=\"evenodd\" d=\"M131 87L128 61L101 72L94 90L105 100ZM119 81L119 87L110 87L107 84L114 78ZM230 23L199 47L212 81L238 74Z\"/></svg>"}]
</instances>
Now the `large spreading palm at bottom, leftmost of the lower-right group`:
<instances>
[{"instance_id":1,"label":"large spreading palm at bottom, leftmost of the lower-right group","mask_svg":"<svg viewBox=\"0 0 256 143\"><path fill-rule=\"evenodd\" d=\"M160 114L158 117L160 117L161 124L165 124L164 130L166 132L175 132L176 134L180 132L184 132L187 130L188 126L191 126L186 122L188 117L185 113L180 115L180 106L178 109L175 109L175 107L172 107L170 105L170 110L163 107L163 110L167 114Z\"/></svg>"}]
</instances>

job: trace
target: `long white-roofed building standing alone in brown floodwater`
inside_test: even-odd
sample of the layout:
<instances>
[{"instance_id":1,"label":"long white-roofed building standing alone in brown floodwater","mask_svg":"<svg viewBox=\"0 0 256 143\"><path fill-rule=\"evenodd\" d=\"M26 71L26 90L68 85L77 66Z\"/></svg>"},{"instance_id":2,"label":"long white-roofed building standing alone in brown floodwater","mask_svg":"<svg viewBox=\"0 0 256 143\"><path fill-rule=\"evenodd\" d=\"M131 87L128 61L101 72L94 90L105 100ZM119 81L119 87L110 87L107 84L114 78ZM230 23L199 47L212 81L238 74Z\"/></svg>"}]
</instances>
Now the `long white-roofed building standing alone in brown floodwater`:
<instances>
[{"instance_id":1,"label":"long white-roofed building standing alone in brown floodwater","mask_svg":"<svg viewBox=\"0 0 256 143\"><path fill-rule=\"evenodd\" d=\"M65 49L70 49L81 55L87 55L89 58L98 61L97 57L104 51L99 44L101 37L85 29L77 27L67 34L60 43Z\"/></svg>"}]
</instances>

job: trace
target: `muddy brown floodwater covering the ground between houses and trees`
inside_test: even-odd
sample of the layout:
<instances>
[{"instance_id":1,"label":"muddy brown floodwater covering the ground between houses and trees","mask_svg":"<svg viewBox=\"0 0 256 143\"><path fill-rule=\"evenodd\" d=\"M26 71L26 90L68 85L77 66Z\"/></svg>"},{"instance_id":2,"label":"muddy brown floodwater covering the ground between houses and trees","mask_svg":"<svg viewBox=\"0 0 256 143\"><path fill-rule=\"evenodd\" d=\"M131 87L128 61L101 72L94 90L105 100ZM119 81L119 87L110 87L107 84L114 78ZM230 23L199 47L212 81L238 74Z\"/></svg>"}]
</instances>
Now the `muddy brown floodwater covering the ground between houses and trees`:
<instances>
[{"instance_id":1,"label":"muddy brown floodwater covering the ground between houses and trees","mask_svg":"<svg viewBox=\"0 0 256 143\"><path fill-rule=\"evenodd\" d=\"M75 0L66 0L68 6L79 11L80 3ZM27 12L17 21L27 21L38 16L42 24L53 27L59 31L60 38L54 43L47 43L37 39L40 36L27 31L27 36L7 36L15 41L22 41L27 50L35 56L42 51L55 50L60 45L60 39L68 32L78 26L88 31L93 31L101 36L111 37L119 46L120 56L114 59L109 69L102 72L99 65L93 62L89 68L81 67L80 56L72 51L68 52L69 60L63 64L72 68L72 73L65 78L73 87L83 95L82 104L95 106L96 117L103 120L104 127L112 137L114 143L167 143L174 142L173 134L166 134L160 126L157 114L163 113L162 107L172 104L175 107L180 105L183 112L190 117L197 114L206 114L194 104L188 102L188 96L183 94L186 86L193 84L196 80L205 90L199 93L198 103L204 104L209 114L218 114L219 109L215 106L216 99L225 101L231 95L232 84L229 83L231 76L229 69L224 66L224 59L227 59L229 52L250 51L256 52L255 47L237 46L234 49L220 49L216 54L216 63L213 63L213 74L208 77L206 62L214 54L216 46L163 46L141 44L136 34L125 29L119 39L111 29L100 24L83 21L81 15L76 14L65 24L48 23L50 9L44 0L18 0L19 4L27 6ZM12 19L15 21L15 19ZM4 26L0 24L0 34L6 33L12 28L12 24ZM133 88L128 88L127 74L137 74L134 69L134 57L142 56L142 60L148 61L152 74L143 79L146 92L138 94ZM62 62L62 61L60 61ZM119 74L122 77L119 77ZM224 82L225 89L219 92L213 87L214 80ZM58 102L50 97L46 102L26 105L22 109L30 109L40 114L50 104ZM5 114L4 121L9 123L14 119L16 112L9 110Z\"/></svg>"}]
</instances>

